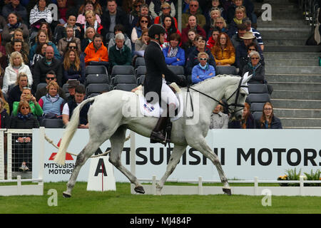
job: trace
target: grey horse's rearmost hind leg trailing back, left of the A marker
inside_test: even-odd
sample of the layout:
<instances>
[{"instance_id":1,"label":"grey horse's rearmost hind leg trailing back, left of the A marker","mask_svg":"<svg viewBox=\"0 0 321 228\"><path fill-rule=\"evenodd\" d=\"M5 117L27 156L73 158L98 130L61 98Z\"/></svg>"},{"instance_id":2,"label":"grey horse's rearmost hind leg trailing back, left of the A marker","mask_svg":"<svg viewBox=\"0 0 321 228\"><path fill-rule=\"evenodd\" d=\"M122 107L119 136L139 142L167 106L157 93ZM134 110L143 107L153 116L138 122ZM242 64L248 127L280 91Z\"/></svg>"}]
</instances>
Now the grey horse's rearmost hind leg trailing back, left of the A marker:
<instances>
[{"instance_id":1,"label":"grey horse's rearmost hind leg trailing back, left of the A marker","mask_svg":"<svg viewBox=\"0 0 321 228\"><path fill-rule=\"evenodd\" d=\"M71 177L69 178L68 184L67 184L67 190L66 192L63 192L63 197L71 197L71 191L73 190L73 187L76 184L76 180L79 174L79 171L81 170L81 167L86 163L89 157L93 155L94 152L98 149L98 147L101 145L102 142L89 140L86 147L81 150L81 152L77 155L75 167L73 168L73 172L71 174Z\"/></svg>"}]
</instances>

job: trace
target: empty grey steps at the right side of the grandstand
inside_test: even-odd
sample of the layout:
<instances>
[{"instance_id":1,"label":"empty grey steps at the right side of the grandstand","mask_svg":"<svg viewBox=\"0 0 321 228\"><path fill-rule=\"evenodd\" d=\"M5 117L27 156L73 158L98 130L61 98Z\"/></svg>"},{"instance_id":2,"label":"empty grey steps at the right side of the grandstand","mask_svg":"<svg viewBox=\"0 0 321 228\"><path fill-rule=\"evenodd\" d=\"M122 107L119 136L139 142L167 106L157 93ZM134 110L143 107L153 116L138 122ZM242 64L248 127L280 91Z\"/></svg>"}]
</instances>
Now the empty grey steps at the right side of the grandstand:
<instances>
[{"instance_id":1,"label":"empty grey steps at the right side of the grandstand","mask_svg":"<svg viewBox=\"0 0 321 228\"><path fill-rule=\"evenodd\" d=\"M271 102L283 128L321 129L321 46L305 46L311 27L295 0L265 0L272 21L258 19L265 49L265 79L273 86Z\"/></svg>"}]
</instances>

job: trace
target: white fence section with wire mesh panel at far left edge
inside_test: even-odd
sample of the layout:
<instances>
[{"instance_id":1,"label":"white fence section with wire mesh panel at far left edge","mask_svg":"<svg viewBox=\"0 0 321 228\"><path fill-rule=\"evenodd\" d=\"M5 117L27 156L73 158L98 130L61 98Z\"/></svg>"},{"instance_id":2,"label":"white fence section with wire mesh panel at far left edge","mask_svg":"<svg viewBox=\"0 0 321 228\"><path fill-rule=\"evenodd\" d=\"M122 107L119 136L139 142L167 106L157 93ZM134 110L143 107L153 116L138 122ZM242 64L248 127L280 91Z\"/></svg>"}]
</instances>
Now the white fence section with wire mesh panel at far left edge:
<instances>
[{"instance_id":1,"label":"white fence section with wire mesh panel at far left edge","mask_svg":"<svg viewBox=\"0 0 321 228\"><path fill-rule=\"evenodd\" d=\"M0 185L0 195L44 195L44 137L36 139L33 137L33 130L26 129L0 129L0 183L15 183L16 185ZM40 128L40 135L44 136L44 128ZM7 139L7 159L4 160L5 136ZM31 143L19 143L17 137L31 137ZM32 141L36 140L39 146L39 170L38 178L32 178ZM20 158L27 161L29 170L19 172ZM4 164L6 163L7 180L4 180ZM22 182L33 182L33 184L23 185ZM37 183L37 184L35 184Z\"/></svg>"}]
</instances>

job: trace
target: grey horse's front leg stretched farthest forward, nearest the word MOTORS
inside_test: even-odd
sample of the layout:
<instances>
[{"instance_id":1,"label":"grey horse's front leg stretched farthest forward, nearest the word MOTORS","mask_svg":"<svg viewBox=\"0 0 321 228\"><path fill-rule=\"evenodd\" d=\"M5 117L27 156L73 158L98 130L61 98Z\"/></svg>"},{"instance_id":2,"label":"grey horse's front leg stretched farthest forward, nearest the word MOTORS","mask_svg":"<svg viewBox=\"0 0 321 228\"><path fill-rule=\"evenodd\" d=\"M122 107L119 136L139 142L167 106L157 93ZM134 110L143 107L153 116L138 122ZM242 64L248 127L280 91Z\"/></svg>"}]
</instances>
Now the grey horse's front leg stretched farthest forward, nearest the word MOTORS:
<instances>
[{"instance_id":1,"label":"grey horse's front leg stretched farthest forward, nearest the word MOTORS","mask_svg":"<svg viewBox=\"0 0 321 228\"><path fill-rule=\"evenodd\" d=\"M228 178L225 177L225 173L223 171L222 165L220 164L220 160L218 159L218 155L215 155L213 150L210 149L208 144L205 141L205 138L201 138L200 140L194 140L195 143L193 145L190 145L195 150L200 151L205 157L208 157L208 159L213 162L216 169L218 170L218 175L220 175L220 181L223 183L223 192L225 192L228 195L231 195L230 191L230 185L228 185Z\"/></svg>"}]
</instances>

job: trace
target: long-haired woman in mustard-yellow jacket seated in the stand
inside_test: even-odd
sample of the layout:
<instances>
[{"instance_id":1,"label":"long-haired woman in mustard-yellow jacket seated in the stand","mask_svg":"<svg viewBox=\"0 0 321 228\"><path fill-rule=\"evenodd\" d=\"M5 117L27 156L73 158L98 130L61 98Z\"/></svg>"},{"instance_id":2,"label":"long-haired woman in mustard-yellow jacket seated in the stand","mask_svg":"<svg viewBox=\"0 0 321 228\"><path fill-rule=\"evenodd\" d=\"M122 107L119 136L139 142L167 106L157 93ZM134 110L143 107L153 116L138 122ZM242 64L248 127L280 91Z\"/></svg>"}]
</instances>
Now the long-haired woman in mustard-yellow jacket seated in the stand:
<instances>
[{"instance_id":1,"label":"long-haired woman in mustard-yellow jacket seated in the stand","mask_svg":"<svg viewBox=\"0 0 321 228\"><path fill-rule=\"evenodd\" d=\"M227 33L220 33L218 42L210 51L215 58L216 66L231 66L235 63L235 48Z\"/></svg>"}]
</instances>

